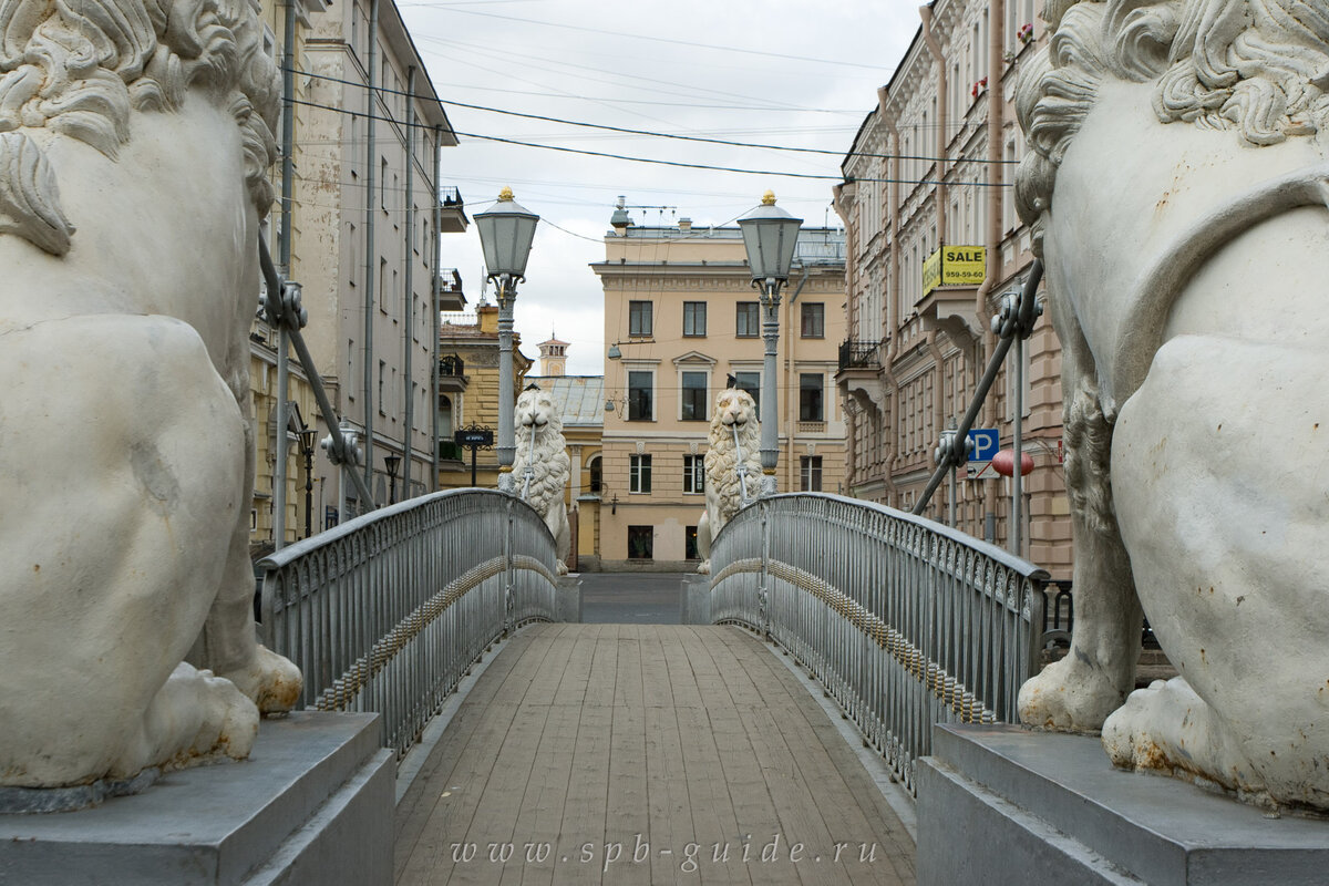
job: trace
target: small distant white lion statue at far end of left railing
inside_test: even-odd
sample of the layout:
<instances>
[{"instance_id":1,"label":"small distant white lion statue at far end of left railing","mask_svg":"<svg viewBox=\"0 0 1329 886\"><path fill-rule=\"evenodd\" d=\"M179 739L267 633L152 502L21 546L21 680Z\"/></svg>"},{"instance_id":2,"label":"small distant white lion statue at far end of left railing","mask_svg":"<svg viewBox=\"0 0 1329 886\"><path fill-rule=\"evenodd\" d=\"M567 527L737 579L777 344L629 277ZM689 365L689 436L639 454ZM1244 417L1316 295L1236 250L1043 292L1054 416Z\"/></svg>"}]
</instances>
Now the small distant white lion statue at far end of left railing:
<instances>
[{"instance_id":1,"label":"small distant white lion statue at far end of left railing","mask_svg":"<svg viewBox=\"0 0 1329 886\"><path fill-rule=\"evenodd\" d=\"M558 414L549 392L529 385L517 397L516 425L517 454L513 458L512 476L522 499L545 518L545 526L554 537L558 574L566 575L571 529L567 526L563 490L567 487L570 460L567 441L563 440L562 416Z\"/></svg>"}]
</instances>

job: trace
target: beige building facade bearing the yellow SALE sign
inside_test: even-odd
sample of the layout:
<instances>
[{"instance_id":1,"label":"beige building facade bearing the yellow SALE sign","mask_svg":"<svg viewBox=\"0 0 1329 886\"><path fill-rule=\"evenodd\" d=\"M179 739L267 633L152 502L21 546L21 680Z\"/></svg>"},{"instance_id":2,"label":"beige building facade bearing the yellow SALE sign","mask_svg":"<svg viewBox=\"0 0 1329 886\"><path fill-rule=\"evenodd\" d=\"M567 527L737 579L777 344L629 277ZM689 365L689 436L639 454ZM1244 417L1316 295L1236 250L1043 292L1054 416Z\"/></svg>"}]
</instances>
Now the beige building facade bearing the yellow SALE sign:
<instances>
[{"instance_id":1,"label":"beige building facade bearing the yellow SALE sign","mask_svg":"<svg viewBox=\"0 0 1329 886\"><path fill-rule=\"evenodd\" d=\"M845 223L848 335L837 384L848 413L848 489L910 510L933 450L958 424L997 344L990 319L1023 286L1030 232L1014 209L1023 138L1011 97L1042 40L1034 0L937 0L844 161L836 210ZM1070 517L1061 456L1061 349L1050 317L1025 345L1022 554L1070 578ZM1014 349L1011 351L1014 355ZM1013 444L1009 357L978 426ZM1009 478L960 476L957 525L1006 545ZM926 515L945 521L944 484Z\"/></svg>"}]
</instances>

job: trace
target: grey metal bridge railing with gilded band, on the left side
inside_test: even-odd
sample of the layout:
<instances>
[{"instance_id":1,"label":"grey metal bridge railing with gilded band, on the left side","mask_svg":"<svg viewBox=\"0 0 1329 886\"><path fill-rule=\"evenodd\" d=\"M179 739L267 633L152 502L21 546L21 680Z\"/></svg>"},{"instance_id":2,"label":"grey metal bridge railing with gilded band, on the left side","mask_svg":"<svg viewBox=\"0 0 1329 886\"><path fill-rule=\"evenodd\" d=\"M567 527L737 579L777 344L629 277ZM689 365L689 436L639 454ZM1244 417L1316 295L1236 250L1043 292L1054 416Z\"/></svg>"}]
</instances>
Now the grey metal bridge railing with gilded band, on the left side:
<instances>
[{"instance_id":1,"label":"grey metal bridge railing with gilded band, on the left side","mask_svg":"<svg viewBox=\"0 0 1329 886\"><path fill-rule=\"evenodd\" d=\"M412 498L260 561L263 642L304 673L304 707L383 713L400 756L490 643L557 619L556 561L512 495Z\"/></svg>"}]
</instances>

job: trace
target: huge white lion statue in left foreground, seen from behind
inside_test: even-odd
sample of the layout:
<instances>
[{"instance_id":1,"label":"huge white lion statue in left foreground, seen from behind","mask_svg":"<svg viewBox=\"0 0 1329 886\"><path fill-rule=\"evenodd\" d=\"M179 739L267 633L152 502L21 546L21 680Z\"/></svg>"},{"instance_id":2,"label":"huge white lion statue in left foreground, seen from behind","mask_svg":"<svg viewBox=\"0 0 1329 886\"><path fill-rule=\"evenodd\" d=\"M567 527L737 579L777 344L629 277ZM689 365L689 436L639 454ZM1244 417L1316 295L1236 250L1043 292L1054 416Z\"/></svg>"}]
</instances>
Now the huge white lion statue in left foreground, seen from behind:
<instances>
[{"instance_id":1,"label":"huge white lion statue in left foreground, seen from behind","mask_svg":"<svg viewBox=\"0 0 1329 886\"><path fill-rule=\"evenodd\" d=\"M300 689L251 608L263 27L243 0L0 20L0 785L245 757Z\"/></svg>"}]
</instances>

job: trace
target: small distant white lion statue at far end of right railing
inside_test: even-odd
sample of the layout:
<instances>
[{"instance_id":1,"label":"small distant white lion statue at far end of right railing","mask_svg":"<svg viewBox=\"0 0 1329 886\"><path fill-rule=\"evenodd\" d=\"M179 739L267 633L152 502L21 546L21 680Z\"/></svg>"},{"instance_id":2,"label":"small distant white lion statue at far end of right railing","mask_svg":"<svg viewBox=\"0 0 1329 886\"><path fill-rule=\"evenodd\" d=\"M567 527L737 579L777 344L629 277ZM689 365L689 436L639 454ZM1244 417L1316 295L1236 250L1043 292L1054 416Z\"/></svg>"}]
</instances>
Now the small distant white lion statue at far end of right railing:
<instances>
[{"instance_id":1,"label":"small distant white lion statue at far end of right railing","mask_svg":"<svg viewBox=\"0 0 1329 886\"><path fill-rule=\"evenodd\" d=\"M703 575L711 571L711 542L744 503L760 497L762 422L747 391L726 388L715 397L706 444L706 511L696 523L696 571Z\"/></svg>"}]
</instances>

